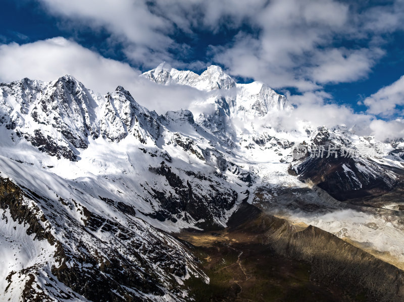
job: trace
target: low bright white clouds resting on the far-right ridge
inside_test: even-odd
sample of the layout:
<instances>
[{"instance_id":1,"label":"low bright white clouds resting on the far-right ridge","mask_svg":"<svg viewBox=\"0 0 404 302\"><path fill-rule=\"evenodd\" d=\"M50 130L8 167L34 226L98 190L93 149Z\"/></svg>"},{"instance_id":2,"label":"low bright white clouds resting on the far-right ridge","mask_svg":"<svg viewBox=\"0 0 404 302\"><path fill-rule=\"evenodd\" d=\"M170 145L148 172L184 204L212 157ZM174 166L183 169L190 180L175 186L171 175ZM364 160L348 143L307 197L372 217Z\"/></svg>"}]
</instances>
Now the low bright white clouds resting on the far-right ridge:
<instances>
[{"instance_id":1,"label":"low bright white clouds resting on the far-right ridge","mask_svg":"<svg viewBox=\"0 0 404 302\"><path fill-rule=\"evenodd\" d=\"M383 120L373 114L386 112L386 107L383 105L385 103L390 103L390 107L395 106L398 101L404 104L402 87L404 87L404 76L375 94L380 98L393 95L390 101L375 101L374 95L372 98L367 98L365 100L365 104L369 106L367 113L357 113L349 106L331 103L332 96L324 91L287 95L297 107L291 112L279 112L278 115L272 116L272 123L281 129L288 130L298 129L300 121L312 127L345 126L358 135L371 135L379 141L402 139L404 138L404 119ZM400 98L397 94L403 97Z\"/></svg>"}]
</instances>

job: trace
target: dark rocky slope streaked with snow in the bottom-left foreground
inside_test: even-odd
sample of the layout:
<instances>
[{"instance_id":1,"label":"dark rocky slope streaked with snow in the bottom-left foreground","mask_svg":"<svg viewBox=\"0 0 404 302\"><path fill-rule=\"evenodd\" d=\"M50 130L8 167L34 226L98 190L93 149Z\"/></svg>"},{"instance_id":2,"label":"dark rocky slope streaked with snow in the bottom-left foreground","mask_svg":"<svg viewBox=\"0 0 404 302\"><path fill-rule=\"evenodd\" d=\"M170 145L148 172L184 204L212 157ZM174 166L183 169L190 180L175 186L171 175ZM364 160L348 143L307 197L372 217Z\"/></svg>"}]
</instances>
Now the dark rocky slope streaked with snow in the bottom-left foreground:
<instances>
[{"instance_id":1,"label":"dark rocky slope streaked with snow in the bottom-left foreground","mask_svg":"<svg viewBox=\"0 0 404 302\"><path fill-rule=\"evenodd\" d=\"M13 220L27 225L27 235L34 235L34 240L47 240L54 247L46 263L34 263L10 273L9 293L20 286L27 301L58 298L55 294L79 299L84 296L94 301L145 301L159 299L170 290L173 298L182 300L176 278L185 278L193 270L188 267L192 257L171 236L136 220L124 227L89 212L75 201L61 199L60 203L62 207L77 207L84 224L33 192L0 179L0 208L10 213ZM52 206L54 213L47 213L44 205ZM58 225L56 221L62 217L65 225ZM14 277L24 277L28 272L39 279L24 281ZM51 284L44 284L41 278Z\"/></svg>"}]
</instances>

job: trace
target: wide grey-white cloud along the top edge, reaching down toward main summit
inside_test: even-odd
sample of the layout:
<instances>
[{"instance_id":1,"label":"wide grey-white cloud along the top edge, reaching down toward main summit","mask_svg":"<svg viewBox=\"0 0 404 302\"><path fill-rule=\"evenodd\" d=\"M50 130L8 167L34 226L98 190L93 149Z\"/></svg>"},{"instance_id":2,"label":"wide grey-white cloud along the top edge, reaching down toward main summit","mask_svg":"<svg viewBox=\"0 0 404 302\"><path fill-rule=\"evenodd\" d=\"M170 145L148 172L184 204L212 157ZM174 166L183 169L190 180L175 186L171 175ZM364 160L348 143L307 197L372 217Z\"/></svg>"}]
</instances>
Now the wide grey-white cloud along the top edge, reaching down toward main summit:
<instances>
[{"instance_id":1,"label":"wide grey-white cloud along the top edge, reaching down toward main summit","mask_svg":"<svg viewBox=\"0 0 404 302\"><path fill-rule=\"evenodd\" d=\"M217 33L222 26L240 26L266 3L265 0L37 1L48 13L62 18L64 26L75 30L81 27L107 30L114 41L123 45L124 54L131 63L146 68L155 67L162 61L177 68L200 67L199 62L183 62L191 50L186 43L171 36L181 31L195 37L195 28Z\"/></svg>"}]
</instances>

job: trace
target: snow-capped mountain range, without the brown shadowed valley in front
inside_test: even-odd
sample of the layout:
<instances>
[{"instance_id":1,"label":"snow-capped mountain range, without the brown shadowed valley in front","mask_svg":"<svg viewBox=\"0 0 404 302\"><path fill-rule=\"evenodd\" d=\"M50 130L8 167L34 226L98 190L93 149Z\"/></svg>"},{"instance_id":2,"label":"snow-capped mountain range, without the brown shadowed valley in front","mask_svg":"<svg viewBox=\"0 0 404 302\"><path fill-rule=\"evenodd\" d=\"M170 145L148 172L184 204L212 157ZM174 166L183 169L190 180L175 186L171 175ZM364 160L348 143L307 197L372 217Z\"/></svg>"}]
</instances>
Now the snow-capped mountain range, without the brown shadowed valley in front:
<instances>
[{"instance_id":1,"label":"snow-capped mountain range, without the brown shadowed valley in front","mask_svg":"<svg viewBox=\"0 0 404 302\"><path fill-rule=\"evenodd\" d=\"M287 99L217 66L197 75L162 64L142 77L207 91L210 109L159 115L121 86L102 95L68 75L0 84L2 299L187 301L184 282L209 278L170 232L223 228L242 202L337 235L315 210L362 211L378 228L348 217L338 236L404 262L394 205L346 202L396 188L404 143L344 127L279 130L269 117L293 110Z\"/></svg>"}]
</instances>

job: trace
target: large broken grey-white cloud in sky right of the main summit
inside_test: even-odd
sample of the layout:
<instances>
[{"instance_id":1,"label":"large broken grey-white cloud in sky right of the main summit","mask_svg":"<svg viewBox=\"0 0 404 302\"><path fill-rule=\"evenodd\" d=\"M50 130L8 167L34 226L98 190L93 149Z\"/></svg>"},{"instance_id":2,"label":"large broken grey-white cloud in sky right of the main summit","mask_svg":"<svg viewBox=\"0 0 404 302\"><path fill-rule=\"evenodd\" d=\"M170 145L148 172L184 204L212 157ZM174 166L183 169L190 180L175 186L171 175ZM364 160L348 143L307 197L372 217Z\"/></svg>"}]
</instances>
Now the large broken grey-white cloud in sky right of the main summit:
<instances>
[{"instance_id":1,"label":"large broken grey-white cloud in sky right of the main summit","mask_svg":"<svg viewBox=\"0 0 404 302\"><path fill-rule=\"evenodd\" d=\"M258 36L240 32L232 43L213 46L212 52L231 74L274 88L315 90L366 78L384 54L381 40L376 43L373 34L358 27L364 20L369 17L338 1L272 1L254 19ZM337 47L342 36L344 41L358 39L352 28L362 33L362 42L371 36L371 46Z\"/></svg>"}]
</instances>

